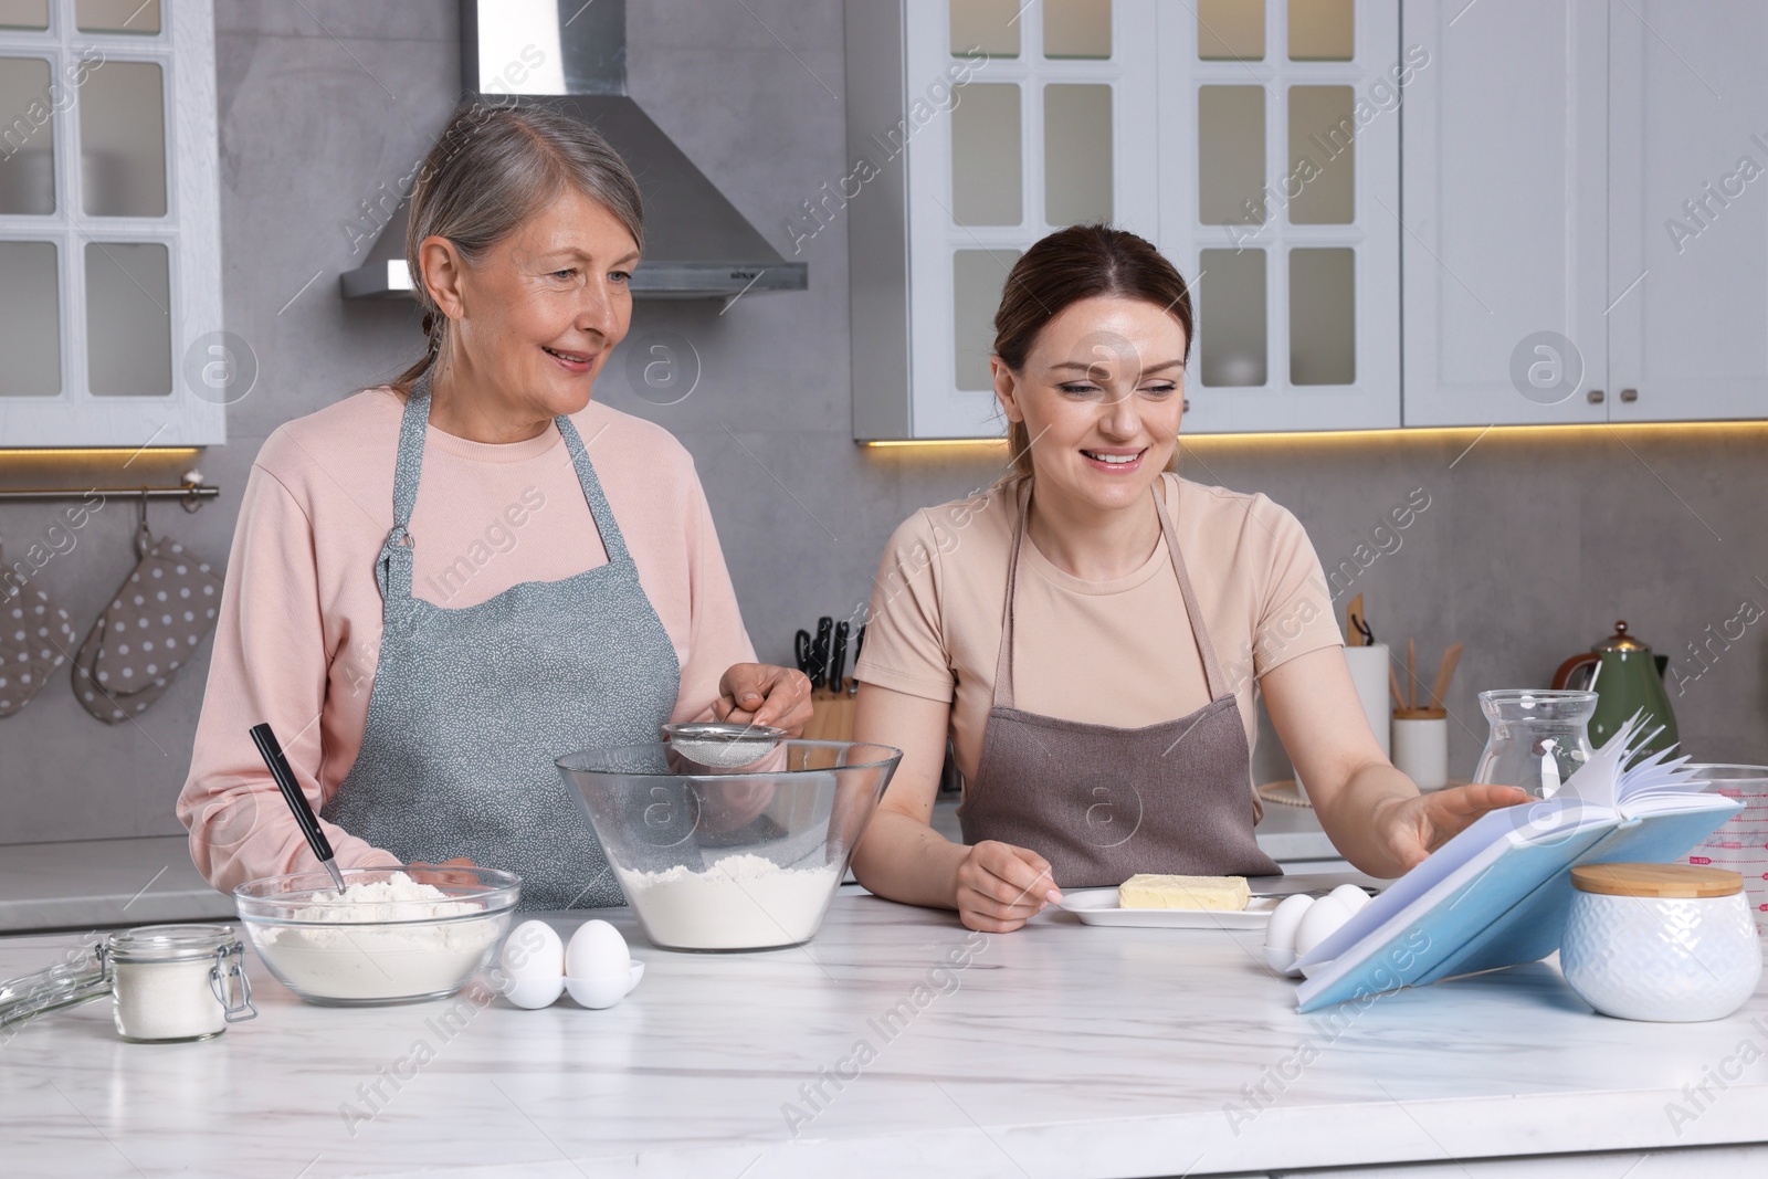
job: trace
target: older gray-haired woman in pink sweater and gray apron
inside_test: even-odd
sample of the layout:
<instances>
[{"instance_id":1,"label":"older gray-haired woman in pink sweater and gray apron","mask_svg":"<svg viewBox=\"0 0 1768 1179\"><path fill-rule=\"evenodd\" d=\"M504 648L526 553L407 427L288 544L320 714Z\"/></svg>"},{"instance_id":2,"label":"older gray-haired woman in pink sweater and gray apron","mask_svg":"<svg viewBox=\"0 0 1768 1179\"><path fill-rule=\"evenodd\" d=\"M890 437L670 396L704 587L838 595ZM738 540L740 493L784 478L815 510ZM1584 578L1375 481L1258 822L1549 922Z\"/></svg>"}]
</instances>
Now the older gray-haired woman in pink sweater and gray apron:
<instances>
[{"instance_id":1,"label":"older gray-haired woman in pink sweater and gray apron","mask_svg":"<svg viewBox=\"0 0 1768 1179\"><path fill-rule=\"evenodd\" d=\"M619 903L553 769L670 719L797 732L755 663L705 493L591 399L631 323L638 186L592 129L465 106L410 203L428 350L253 465L179 817L216 884L313 868L248 735L269 721L338 863L476 863L525 907Z\"/></svg>"}]
</instances>

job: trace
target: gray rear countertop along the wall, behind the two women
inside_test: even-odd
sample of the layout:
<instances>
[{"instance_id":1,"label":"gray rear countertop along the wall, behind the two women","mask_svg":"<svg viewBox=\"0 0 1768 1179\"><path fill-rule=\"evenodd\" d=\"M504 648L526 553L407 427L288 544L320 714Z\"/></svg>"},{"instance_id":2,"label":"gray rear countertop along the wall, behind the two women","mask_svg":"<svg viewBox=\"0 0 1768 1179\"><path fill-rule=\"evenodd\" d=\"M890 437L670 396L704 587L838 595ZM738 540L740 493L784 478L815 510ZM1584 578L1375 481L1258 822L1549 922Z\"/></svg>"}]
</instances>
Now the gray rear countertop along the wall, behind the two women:
<instances>
[{"instance_id":1,"label":"gray rear countertop along the wall, behind the two women","mask_svg":"<svg viewBox=\"0 0 1768 1179\"><path fill-rule=\"evenodd\" d=\"M958 840L956 802L934 806L934 829ZM1314 811L1266 804L1259 847L1280 863L1337 859ZM0 847L0 932L94 930L156 921L217 921L233 898L209 887L182 834Z\"/></svg>"}]
</instances>

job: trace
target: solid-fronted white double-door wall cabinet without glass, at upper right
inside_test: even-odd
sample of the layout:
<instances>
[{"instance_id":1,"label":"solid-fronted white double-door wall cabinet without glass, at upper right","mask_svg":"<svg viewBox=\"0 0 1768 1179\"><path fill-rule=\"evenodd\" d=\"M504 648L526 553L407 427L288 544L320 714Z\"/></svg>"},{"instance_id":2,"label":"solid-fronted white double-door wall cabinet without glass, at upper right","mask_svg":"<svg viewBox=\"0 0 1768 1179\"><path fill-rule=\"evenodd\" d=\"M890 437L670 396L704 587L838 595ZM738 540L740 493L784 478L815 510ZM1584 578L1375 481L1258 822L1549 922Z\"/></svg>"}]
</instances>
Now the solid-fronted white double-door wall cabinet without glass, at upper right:
<instances>
[{"instance_id":1,"label":"solid-fronted white double-door wall cabinet without glass, at upper right","mask_svg":"<svg viewBox=\"0 0 1768 1179\"><path fill-rule=\"evenodd\" d=\"M1407 0L1402 37L1406 424L1768 415L1768 9Z\"/></svg>"}]
</instances>

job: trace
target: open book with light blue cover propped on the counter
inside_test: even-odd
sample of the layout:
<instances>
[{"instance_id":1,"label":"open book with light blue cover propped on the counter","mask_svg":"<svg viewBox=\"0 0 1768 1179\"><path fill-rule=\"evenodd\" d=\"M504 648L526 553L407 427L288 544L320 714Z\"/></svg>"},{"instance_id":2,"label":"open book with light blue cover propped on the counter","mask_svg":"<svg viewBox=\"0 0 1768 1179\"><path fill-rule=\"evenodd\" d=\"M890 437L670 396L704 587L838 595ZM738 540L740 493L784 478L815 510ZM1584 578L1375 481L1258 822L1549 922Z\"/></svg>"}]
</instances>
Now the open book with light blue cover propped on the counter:
<instances>
[{"instance_id":1,"label":"open book with light blue cover propped on the counter","mask_svg":"<svg viewBox=\"0 0 1768 1179\"><path fill-rule=\"evenodd\" d=\"M1574 864L1671 863L1740 804L1687 757L1642 755L1634 714L1543 802L1490 811L1303 955L1298 1011L1536 962L1559 949Z\"/></svg>"}]
</instances>

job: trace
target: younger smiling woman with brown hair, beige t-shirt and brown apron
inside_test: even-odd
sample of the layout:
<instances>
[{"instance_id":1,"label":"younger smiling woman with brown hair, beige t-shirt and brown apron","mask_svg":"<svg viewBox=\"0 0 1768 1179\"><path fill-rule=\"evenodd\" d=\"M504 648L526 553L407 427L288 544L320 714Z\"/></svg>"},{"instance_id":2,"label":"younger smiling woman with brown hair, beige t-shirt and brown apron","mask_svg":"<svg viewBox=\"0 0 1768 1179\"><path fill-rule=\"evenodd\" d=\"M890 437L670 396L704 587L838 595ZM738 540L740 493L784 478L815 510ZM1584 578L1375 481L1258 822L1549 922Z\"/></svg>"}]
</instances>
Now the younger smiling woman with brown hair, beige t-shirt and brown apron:
<instances>
[{"instance_id":1,"label":"younger smiling woman with brown hair, beige t-shirt and brown apron","mask_svg":"<svg viewBox=\"0 0 1768 1179\"><path fill-rule=\"evenodd\" d=\"M994 382L1010 474L891 537L856 739L903 749L854 857L868 889L1015 930L1061 887L1269 875L1255 688L1326 834L1393 877L1512 787L1421 795L1383 757L1292 514L1170 474L1190 292L1140 237L1073 226L1013 267ZM946 742L964 843L930 827Z\"/></svg>"}]
</instances>

